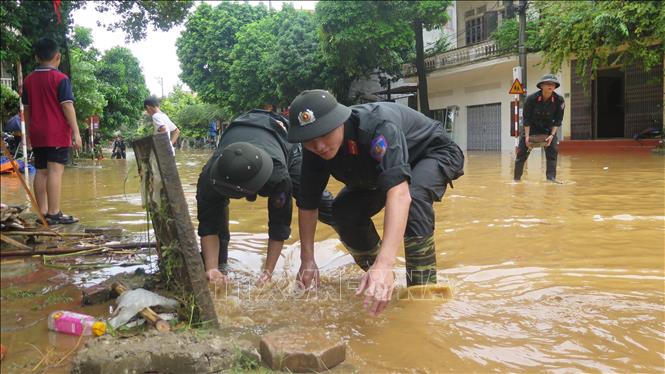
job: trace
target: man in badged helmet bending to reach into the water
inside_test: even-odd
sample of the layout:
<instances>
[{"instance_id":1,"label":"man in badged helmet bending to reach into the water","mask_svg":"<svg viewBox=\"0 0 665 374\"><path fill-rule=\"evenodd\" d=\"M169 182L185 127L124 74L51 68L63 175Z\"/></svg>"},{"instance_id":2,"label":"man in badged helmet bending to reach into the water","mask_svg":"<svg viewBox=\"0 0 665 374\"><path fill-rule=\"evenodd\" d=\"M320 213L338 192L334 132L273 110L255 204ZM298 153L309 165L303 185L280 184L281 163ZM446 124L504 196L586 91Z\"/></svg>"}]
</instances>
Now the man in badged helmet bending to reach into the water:
<instances>
[{"instance_id":1,"label":"man in badged helmet bending to reach into the water","mask_svg":"<svg viewBox=\"0 0 665 374\"><path fill-rule=\"evenodd\" d=\"M381 313L394 289L393 266L404 242L407 284L436 283L434 201L463 174L464 154L441 122L400 104L347 107L324 90L304 91L289 110L290 142L302 142L298 281L318 281L314 233L321 193L332 175L345 184L332 206L333 227L366 271L356 293ZM385 207L383 238L372 216Z\"/></svg>"}]
</instances>

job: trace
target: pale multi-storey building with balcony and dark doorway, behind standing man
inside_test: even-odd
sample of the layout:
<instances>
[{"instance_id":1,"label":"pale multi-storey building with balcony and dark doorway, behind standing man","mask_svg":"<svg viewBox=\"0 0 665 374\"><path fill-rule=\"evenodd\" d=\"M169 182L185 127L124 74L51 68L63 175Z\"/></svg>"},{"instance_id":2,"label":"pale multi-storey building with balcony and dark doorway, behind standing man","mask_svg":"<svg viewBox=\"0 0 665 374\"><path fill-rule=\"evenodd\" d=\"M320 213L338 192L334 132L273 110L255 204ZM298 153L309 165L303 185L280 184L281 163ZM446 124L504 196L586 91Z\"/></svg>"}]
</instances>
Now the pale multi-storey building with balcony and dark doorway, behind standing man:
<instances>
[{"instance_id":1,"label":"pale multi-storey building with balcony and dark doorway, behind standing man","mask_svg":"<svg viewBox=\"0 0 665 374\"><path fill-rule=\"evenodd\" d=\"M514 95L508 92L519 58L514 51L499 50L489 36L516 13L516 5L517 1L456 2L457 48L426 60L432 117L446 123L463 149L501 151L515 146L510 134ZM540 62L538 54L529 54L528 94L537 90L542 75L550 73ZM564 64L557 72L557 92L566 100L562 140L630 138L657 121L662 124L662 64L650 72L635 66L603 69L589 82L588 93L574 64ZM404 75L405 82L417 85L412 65L405 66Z\"/></svg>"}]
</instances>

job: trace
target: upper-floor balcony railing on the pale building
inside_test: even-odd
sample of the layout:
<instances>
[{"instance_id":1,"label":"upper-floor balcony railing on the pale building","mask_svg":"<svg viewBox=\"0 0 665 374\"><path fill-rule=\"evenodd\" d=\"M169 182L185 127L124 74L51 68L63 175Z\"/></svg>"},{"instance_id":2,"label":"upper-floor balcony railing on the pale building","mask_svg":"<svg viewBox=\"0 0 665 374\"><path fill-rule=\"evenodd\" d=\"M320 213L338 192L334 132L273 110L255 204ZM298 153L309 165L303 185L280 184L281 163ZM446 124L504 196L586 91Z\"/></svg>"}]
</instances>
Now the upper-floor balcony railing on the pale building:
<instances>
[{"instance_id":1,"label":"upper-floor balcony railing on the pale building","mask_svg":"<svg viewBox=\"0 0 665 374\"><path fill-rule=\"evenodd\" d=\"M425 59L425 69L427 69L427 71L444 69L486 60L492 57L498 57L510 52L510 50L499 49L496 42L488 40L428 57ZM405 64L402 66L402 74L404 74L404 76L413 75L415 73L416 66L414 64Z\"/></svg>"}]
</instances>

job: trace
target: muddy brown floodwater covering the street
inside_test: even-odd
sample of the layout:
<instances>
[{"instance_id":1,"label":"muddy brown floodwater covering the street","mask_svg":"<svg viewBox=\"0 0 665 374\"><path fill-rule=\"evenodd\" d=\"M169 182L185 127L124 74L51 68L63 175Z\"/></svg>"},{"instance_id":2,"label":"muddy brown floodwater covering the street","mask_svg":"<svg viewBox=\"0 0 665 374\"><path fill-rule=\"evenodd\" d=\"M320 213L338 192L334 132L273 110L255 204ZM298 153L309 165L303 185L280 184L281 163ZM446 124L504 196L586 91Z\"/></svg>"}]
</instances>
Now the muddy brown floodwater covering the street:
<instances>
[{"instance_id":1,"label":"muddy brown floodwater covering the street","mask_svg":"<svg viewBox=\"0 0 665 374\"><path fill-rule=\"evenodd\" d=\"M177 155L194 225L195 183L208 155ZM214 292L224 331L258 341L283 326L333 330L349 348L339 372L663 372L665 158L563 154L559 185L545 182L538 151L520 183L512 182L512 162L510 153L468 154L466 175L435 205L439 282L453 296L394 300L378 318L363 312L353 295L361 272L322 224L316 236L322 286L311 294L293 291L295 214L274 283L253 287L267 243L265 200L233 201L233 283ZM63 211L88 226L122 226L146 239L134 160L100 165L66 170ZM15 178L2 177L2 201L25 201ZM381 229L382 216L375 222ZM48 333L44 318L55 308L77 308L76 286L94 283L99 273L3 262L3 294L30 289L38 296L3 297L1 337L9 352L2 372L29 371L43 357L37 350L66 355L80 342ZM33 270L5 277L19 265ZM402 268L400 257L396 270ZM47 302L54 293L62 303ZM104 315L105 308L84 310Z\"/></svg>"}]
</instances>

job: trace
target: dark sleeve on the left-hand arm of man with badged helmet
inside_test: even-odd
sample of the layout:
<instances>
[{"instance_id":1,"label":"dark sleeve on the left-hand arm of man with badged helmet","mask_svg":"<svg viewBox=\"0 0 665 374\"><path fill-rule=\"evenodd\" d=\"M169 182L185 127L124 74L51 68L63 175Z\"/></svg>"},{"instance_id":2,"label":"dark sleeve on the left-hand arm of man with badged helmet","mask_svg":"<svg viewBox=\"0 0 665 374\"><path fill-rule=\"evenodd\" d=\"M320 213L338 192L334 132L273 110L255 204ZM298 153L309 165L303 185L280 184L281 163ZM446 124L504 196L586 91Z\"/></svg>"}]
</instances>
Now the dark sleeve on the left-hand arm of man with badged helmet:
<instances>
[{"instance_id":1,"label":"dark sleeve on the left-hand arm of man with badged helmet","mask_svg":"<svg viewBox=\"0 0 665 374\"><path fill-rule=\"evenodd\" d=\"M303 150L300 172L298 208L314 210L319 207L321 194L328 185L330 169L325 160L308 150Z\"/></svg>"}]
</instances>

